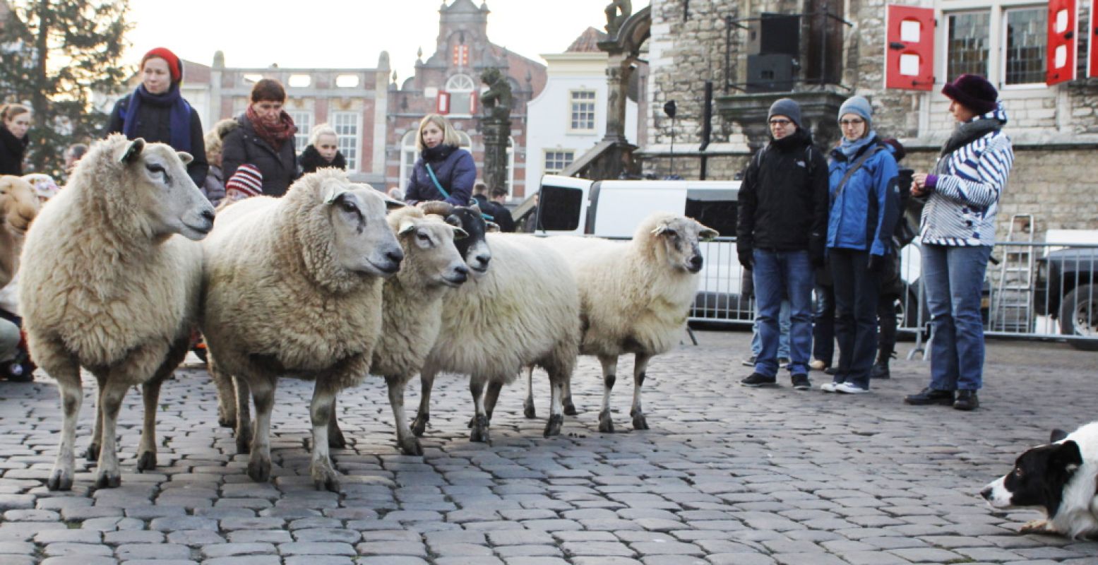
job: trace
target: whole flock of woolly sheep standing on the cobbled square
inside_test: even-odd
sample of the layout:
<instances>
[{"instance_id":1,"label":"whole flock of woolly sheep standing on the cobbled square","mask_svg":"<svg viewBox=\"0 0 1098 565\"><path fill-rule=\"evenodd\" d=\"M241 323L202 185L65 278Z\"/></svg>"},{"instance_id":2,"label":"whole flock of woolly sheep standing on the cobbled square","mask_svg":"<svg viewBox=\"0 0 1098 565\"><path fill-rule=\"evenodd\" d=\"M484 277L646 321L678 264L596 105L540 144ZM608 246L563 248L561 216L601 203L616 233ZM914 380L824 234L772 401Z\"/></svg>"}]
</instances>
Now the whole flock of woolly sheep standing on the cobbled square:
<instances>
[{"instance_id":1,"label":"whole flock of woolly sheep standing on the cobbled square","mask_svg":"<svg viewBox=\"0 0 1098 565\"><path fill-rule=\"evenodd\" d=\"M86 454L98 458L96 484L121 481L115 428L131 386L142 387L145 409L137 468L156 466L160 385L195 326L209 347L219 420L235 425L257 481L271 473L281 377L315 383L310 470L329 490L338 474L328 450L345 445L336 397L367 375L385 379L401 451L423 454L417 436L438 373L469 376L470 440L486 442L503 385L542 367L549 436L575 413L576 356L595 355L605 390L598 428L609 432L617 358L631 353L632 425L647 429L646 366L677 343L702 267L698 241L716 235L663 213L631 242L488 233L493 225L474 207L405 207L335 169L302 177L283 198L235 203L214 222L187 175L189 159L112 135L26 233L24 330L35 363L57 380L64 418L51 489L72 486L81 367L99 385ZM410 424L404 388L417 374L423 394Z\"/></svg>"}]
</instances>

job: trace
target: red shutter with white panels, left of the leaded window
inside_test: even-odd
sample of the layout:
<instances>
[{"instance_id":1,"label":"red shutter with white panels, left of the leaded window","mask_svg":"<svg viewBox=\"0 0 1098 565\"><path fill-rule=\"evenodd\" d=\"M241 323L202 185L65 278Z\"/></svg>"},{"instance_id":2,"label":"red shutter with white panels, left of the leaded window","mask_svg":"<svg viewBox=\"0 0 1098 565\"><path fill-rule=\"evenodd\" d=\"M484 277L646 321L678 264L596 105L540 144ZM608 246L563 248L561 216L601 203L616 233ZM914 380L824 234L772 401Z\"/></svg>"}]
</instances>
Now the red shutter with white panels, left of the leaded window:
<instances>
[{"instance_id":1,"label":"red shutter with white panels, left of the leaded window","mask_svg":"<svg viewBox=\"0 0 1098 565\"><path fill-rule=\"evenodd\" d=\"M932 89L934 10L888 4L885 30L885 88Z\"/></svg>"}]
</instances>

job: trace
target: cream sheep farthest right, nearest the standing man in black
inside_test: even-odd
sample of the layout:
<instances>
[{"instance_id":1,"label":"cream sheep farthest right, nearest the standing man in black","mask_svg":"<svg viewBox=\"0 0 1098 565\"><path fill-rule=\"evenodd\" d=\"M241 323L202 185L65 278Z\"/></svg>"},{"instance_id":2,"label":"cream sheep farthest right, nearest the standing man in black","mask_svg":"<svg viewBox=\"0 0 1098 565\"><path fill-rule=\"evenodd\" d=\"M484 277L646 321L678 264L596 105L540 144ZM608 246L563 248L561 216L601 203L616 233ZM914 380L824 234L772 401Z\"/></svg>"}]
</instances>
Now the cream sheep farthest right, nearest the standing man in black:
<instances>
[{"instance_id":1,"label":"cream sheep farthest right, nearest the standing man in black","mask_svg":"<svg viewBox=\"0 0 1098 565\"><path fill-rule=\"evenodd\" d=\"M648 430L640 402L648 362L679 342L697 293L697 273L703 264L698 240L717 235L690 218L657 212L637 226L631 242L573 236L546 240L567 258L579 284L583 318L580 353L598 357L603 366L600 432L614 431L609 395L618 356L627 353L635 354L629 416L635 430ZM527 418L534 417L531 372L528 368ZM564 405L568 412L574 412L570 387L565 388Z\"/></svg>"}]
</instances>

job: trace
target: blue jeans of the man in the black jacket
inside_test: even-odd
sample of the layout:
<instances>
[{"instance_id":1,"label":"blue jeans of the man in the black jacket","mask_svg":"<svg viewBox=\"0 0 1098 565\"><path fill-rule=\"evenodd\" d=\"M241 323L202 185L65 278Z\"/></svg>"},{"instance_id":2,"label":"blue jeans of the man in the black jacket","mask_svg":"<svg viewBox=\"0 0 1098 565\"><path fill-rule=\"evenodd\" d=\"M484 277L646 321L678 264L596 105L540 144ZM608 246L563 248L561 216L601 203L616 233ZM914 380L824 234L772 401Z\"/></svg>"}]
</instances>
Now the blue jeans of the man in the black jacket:
<instances>
[{"instance_id":1,"label":"blue jeans of the man in the black jacket","mask_svg":"<svg viewBox=\"0 0 1098 565\"><path fill-rule=\"evenodd\" d=\"M759 312L759 340L762 348L755 357L755 373L777 375L777 347L781 341L778 318L782 298L789 300L789 373L808 373L813 345L813 267L807 251L754 250L755 304Z\"/></svg>"}]
</instances>

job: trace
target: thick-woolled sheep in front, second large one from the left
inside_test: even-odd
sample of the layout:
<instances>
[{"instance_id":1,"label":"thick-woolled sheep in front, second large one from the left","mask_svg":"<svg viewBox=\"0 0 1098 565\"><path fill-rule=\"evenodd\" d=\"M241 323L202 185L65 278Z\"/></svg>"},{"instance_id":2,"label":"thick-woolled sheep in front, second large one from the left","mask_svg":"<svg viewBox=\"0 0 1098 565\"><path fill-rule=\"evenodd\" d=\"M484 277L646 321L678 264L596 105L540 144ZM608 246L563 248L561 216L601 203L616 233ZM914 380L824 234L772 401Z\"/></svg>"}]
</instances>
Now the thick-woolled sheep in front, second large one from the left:
<instances>
[{"instance_id":1,"label":"thick-woolled sheep in front, second large one from the left","mask_svg":"<svg viewBox=\"0 0 1098 565\"><path fill-rule=\"evenodd\" d=\"M253 480L270 478L270 416L279 376L314 380L310 474L337 491L328 457L336 392L370 368L381 330L382 279L404 258L385 223L403 206L346 173L301 177L280 199L225 209L203 242L202 333L214 372L236 384L236 445ZM256 406L253 431L248 392ZM250 440L250 445L249 445Z\"/></svg>"}]
</instances>

